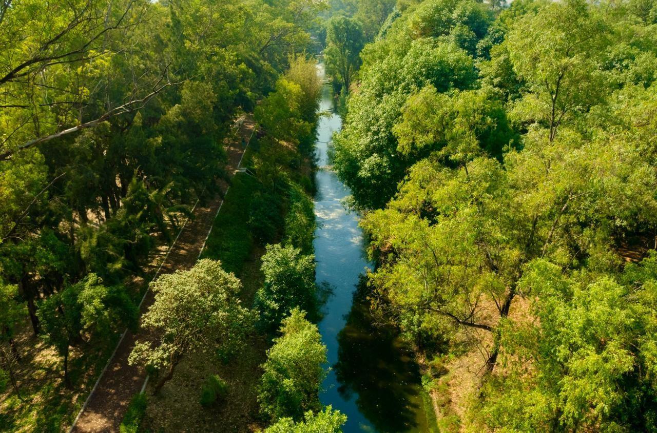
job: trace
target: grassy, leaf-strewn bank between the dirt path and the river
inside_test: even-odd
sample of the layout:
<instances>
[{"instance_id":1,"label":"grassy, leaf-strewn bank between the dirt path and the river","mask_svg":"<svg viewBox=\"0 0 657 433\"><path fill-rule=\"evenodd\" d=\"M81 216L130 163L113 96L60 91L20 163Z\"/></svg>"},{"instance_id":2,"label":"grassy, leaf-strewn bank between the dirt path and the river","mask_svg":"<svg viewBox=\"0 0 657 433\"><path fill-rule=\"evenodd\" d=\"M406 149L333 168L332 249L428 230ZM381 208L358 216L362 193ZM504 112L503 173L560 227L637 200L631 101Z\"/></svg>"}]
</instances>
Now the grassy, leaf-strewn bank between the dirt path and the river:
<instances>
[{"instance_id":1,"label":"grassy, leaf-strewn bank between the dirt path and the river","mask_svg":"<svg viewBox=\"0 0 657 433\"><path fill-rule=\"evenodd\" d=\"M220 260L242 281L240 298L252 306L263 284L260 258L264 245L290 237L311 239L315 228L313 159L284 142L262 144L254 138L242 167L231 183L202 257ZM299 212L305 215L297 215ZM304 221L300 226L300 221ZM181 361L173 379L158 396L148 395L143 431L247 432L263 425L258 416L256 385L260 365L271 344L265 333L254 333L242 351L222 363L215 357L193 355ZM228 384L227 396L204 407L200 392L208 377Z\"/></svg>"}]
</instances>

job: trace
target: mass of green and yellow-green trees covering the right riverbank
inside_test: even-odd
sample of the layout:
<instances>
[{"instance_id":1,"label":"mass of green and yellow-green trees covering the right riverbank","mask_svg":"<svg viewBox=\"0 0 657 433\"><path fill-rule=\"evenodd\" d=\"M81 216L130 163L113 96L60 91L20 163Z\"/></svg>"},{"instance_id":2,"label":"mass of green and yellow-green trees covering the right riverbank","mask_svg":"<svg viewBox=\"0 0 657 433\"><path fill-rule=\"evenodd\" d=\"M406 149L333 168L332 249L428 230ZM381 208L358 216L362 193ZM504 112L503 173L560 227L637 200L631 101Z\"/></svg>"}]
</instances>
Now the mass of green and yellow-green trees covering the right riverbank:
<instances>
[{"instance_id":1,"label":"mass of green and yellow-green trees covering the right riverbank","mask_svg":"<svg viewBox=\"0 0 657 433\"><path fill-rule=\"evenodd\" d=\"M656 431L651 9L424 1L363 50L334 164L445 430Z\"/></svg>"}]
</instances>

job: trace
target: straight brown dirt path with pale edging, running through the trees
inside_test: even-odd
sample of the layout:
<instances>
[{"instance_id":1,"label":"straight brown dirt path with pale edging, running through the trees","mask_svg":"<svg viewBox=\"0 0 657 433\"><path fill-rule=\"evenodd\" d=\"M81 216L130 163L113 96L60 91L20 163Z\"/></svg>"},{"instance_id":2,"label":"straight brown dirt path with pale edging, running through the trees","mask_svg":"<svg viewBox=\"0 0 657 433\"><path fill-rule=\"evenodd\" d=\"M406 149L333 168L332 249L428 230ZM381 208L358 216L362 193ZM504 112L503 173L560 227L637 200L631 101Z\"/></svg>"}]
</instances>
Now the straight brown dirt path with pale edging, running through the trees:
<instances>
[{"instance_id":1,"label":"straight brown dirt path with pale edging, running through the trees","mask_svg":"<svg viewBox=\"0 0 657 433\"><path fill-rule=\"evenodd\" d=\"M243 122L238 122L238 133L226 144L228 154L229 175L237 171L242 155L244 142L248 142L254 131L254 121L250 115ZM244 142L242 142L244 139ZM224 185L223 192L227 185ZM185 225L179 237L166 256L158 275L170 274L176 270L187 270L194 266L204 247L206 237L212 229L214 218L221 207L223 199L215 197L206 205L197 205L194 218ZM142 304L141 313L145 313L152 304L154 296L148 291ZM70 432L96 433L118 432L123 420L125 409L131 398L141 391L146 379L146 373L141 367L128 365L127 358L135 346L139 333L127 331L119 342L114 356L110 359L106 370L94 390L91 391L87 404L81 410Z\"/></svg>"}]
</instances>

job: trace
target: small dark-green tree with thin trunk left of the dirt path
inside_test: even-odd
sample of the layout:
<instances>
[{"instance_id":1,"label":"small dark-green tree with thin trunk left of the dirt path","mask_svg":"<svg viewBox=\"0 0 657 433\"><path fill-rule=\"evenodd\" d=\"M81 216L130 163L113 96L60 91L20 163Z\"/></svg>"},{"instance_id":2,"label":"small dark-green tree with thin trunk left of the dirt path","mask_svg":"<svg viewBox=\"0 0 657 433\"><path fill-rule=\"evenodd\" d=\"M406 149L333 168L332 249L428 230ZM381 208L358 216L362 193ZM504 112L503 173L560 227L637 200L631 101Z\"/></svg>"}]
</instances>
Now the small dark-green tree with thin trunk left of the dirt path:
<instances>
[{"instance_id":1,"label":"small dark-green tree with thin trunk left of the dirt path","mask_svg":"<svg viewBox=\"0 0 657 433\"><path fill-rule=\"evenodd\" d=\"M70 388L70 347L85 338L106 340L108 335L126 325L133 327L137 307L124 287L106 287L102 279L89 274L79 283L43 300L37 314L43 326L43 340L64 358L64 383Z\"/></svg>"}]
</instances>

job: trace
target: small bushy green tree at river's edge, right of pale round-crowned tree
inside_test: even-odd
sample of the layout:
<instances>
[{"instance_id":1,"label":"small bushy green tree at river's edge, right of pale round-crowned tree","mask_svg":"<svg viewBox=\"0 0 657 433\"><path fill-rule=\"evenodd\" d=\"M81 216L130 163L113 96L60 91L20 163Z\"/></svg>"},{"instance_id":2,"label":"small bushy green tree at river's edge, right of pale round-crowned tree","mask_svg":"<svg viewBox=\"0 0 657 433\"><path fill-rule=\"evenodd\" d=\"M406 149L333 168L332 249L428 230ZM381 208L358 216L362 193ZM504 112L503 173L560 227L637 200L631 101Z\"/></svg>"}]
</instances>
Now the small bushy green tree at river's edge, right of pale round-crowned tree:
<instances>
[{"instance_id":1,"label":"small bushy green tree at river's edge, right of pale round-crowned tree","mask_svg":"<svg viewBox=\"0 0 657 433\"><path fill-rule=\"evenodd\" d=\"M292 245L267 245L262 257L263 287L256 293L256 307L268 326L277 327L290 310L315 310L315 257L302 255Z\"/></svg>"}]
</instances>

